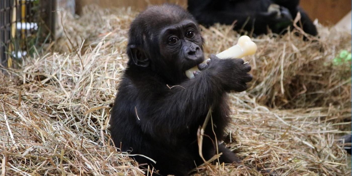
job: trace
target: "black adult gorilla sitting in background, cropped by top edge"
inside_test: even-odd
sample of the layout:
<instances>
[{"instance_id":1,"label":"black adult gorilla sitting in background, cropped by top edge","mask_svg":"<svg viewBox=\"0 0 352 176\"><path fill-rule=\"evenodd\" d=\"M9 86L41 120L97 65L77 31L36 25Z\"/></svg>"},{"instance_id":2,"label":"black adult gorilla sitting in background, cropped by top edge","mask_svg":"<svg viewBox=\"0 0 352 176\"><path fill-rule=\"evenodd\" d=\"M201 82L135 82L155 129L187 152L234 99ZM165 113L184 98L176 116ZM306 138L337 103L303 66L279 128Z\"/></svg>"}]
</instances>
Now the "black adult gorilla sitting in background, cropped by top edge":
<instances>
[{"instance_id":1,"label":"black adult gorilla sitting in background, cropped by top edge","mask_svg":"<svg viewBox=\"0 0 352 176\"><path fill-rule=\"evenodd\" d=\"M306 12L299 7L299 0L188 0L188 10L205 26L215 23L231 25L237 20L234 30L244 29L254 34L281 33L292 24L297 12L301 13L304 32L316 36L318 32ZM279 5L272 10L270 5ZM302 24L302 25L301 25Z\"/></svg>"}]
</instances>

